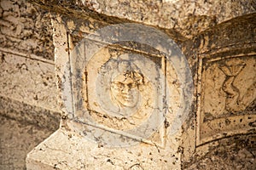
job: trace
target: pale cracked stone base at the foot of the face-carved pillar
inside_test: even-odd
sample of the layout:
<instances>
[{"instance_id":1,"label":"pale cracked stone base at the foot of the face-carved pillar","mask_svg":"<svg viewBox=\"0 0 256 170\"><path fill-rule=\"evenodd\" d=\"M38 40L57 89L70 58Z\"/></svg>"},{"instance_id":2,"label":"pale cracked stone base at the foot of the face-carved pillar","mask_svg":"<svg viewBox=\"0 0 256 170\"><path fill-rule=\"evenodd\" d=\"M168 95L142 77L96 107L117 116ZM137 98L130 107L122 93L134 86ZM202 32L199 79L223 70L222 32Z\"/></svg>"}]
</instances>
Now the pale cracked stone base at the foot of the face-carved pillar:
<instances>
[{"instance_id":1,"label":"pale cracked stone base at the foot of the face-carved pillar","mask_svg":"<svg viewBox=\"0 0 256 170\"><path fill-rule=\"evenodd\" d=\"M26 158L32 169L180 169L180 154L150 144L107 148L59 129Z\"/></svg>"}]
</instances>

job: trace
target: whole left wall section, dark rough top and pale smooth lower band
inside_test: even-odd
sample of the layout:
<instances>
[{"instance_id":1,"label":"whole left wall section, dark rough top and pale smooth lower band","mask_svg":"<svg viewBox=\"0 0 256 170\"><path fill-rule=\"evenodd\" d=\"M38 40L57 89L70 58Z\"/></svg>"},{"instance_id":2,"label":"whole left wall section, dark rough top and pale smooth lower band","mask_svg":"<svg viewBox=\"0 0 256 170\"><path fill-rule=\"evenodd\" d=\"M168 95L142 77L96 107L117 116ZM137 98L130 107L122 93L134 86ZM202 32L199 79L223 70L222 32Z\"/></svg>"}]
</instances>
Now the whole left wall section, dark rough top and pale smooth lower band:
<instances>
[{"instance_id":1,"label":"whole left wall section, dark rough top and pale smooth lower band","mask_svg":"<svg viewBox=\"0 0 256 170\"><path fill-rule=\"evenodd\" d=\"M26 1L0 3L0 113L39 127L59 126L49 12Z\"/></svg>"}]
</instances>

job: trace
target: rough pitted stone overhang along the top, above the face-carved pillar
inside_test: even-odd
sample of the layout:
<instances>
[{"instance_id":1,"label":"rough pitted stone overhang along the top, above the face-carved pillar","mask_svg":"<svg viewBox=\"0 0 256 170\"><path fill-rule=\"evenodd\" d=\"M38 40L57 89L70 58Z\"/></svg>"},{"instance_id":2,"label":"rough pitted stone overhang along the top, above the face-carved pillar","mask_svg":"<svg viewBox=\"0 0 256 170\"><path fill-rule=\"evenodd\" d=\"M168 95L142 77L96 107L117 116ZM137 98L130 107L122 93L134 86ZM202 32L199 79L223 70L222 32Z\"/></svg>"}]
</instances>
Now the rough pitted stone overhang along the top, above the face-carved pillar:
<instances>
[{"instance_id":1,"label":"rough pitted stone overhang along the top, above the face-carved pillar","mask_svg":"<svg viewBox=\"0 0 256 170\"><path fill-rule=\"evenodd\" d=\"M135 21L166 30L174 39L194 37L226 20L255 12L256 3L249 1L125 1L74 0L45 2L32 0L46 8L65 14L83 14L109 23ZM112 19L111 19L112 17Z\"/></svg>"}]
</instances>

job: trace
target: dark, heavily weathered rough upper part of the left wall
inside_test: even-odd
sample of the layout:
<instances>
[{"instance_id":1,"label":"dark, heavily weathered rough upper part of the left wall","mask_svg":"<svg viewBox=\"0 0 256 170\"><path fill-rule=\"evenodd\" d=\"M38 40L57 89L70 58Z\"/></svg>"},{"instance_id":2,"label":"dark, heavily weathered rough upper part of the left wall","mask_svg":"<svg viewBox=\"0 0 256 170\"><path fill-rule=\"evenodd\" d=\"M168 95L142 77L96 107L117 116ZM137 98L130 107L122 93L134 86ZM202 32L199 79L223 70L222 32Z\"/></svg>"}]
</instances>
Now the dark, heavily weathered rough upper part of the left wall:
<instances>
[{"instance_id":1,"label":"dark, heavily weathered rough upper part of the left wall","mask_svg":"<svg viewBox=\"0 0 256 170\"><path fill-rule=\"evenodd\" d=\"M49 12L23 0L2 0L0 26L0 48L54 60Z\"/></svg>"}]
</instances>

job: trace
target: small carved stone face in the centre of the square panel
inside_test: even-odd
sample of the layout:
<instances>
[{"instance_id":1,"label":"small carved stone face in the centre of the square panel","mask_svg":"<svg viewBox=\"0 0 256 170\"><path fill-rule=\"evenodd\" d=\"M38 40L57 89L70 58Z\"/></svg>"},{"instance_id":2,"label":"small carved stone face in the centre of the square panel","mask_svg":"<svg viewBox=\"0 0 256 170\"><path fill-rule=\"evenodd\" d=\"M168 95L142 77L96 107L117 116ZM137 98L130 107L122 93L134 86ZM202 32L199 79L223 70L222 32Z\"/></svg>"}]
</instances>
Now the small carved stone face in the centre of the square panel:
<instances>
[{"instance_id":1,"label":"small carved stone face in the centre of the square panel","mask_svg":"<svg viewBox=\"0 0 256 170\"><path fill-rule=\"evenodd\" d=\"M140 92L138 86L140 80L136 75L138 75L136 72L127 71L113 79L111 94L120 106L133 108L139 103Z\"/></svg>"}]
</instances>

